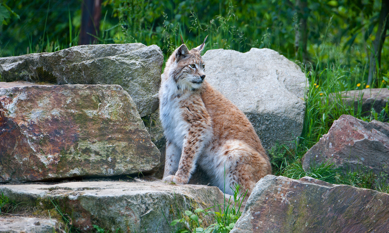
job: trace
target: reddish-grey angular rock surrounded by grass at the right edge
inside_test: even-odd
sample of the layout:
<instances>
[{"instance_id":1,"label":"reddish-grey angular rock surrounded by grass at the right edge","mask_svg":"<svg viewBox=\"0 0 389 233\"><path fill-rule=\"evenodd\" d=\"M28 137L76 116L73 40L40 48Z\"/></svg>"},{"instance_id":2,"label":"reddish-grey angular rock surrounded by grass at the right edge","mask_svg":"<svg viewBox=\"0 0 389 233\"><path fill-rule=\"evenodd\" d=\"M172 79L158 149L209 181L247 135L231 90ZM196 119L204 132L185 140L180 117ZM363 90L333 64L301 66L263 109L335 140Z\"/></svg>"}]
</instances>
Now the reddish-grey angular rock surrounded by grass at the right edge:
<instances>
[{"instance_id":1,"label":"reddish-grey angular rock surrounded by grass at the right edge","mask_svg":"<svg viewBox=\"0 0 389 233\"><path fill-rule=\"evenodd\" d=\"M365 166L389 174L389 123L340 116L304 155L303 169L326 162L346 171Z\"/></svg>"}]
</instances>

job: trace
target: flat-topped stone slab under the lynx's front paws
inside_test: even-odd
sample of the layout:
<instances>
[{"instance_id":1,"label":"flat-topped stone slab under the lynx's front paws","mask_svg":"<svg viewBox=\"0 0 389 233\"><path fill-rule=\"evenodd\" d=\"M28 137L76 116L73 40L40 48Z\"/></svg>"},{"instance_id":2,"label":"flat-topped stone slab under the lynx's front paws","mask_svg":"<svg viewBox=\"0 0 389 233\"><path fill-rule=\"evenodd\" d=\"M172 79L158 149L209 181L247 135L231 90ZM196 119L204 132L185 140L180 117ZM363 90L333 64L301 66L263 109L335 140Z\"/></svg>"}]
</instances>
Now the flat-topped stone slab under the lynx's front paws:
<instances>
[{"instance_id":1,"label":"flat-topped stone slab under the lynx's front paws","mask_svg":"<svg viewBox=\"0 0 389 233\"><path fill-rule=\"evenodd\" d=\"M146 182L69 182L62 184L0 185L0 193L14 201L41 208L54 198L75 227L95 232L92 224L115 232L170 232L172 219L184 210L208 208L224 202L217 187ZM47 207L48 206L48 207ZM178 210L178 212L177 212ZM212 218L203 219L210 224Z\"/></svg>"}]
</instances>

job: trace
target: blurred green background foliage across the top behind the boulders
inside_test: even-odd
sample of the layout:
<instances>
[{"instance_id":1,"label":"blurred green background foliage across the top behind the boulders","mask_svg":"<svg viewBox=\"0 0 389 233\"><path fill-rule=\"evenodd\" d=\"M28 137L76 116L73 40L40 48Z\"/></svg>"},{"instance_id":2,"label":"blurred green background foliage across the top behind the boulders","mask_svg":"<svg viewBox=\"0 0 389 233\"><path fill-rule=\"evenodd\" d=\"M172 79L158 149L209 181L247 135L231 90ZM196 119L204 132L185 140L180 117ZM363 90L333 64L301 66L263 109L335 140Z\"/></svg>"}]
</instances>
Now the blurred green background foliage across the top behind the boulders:
<instances>
[{"instance_id":1,"label":"blurred green background foliage across the top behind the boulders","mask_svg":"<svg viewBox=\"0 0 389 233\"><path fill-rule=\"evenodd\" d=\"M81 21L78 1L8 0L6 4L20 15L20 21L7 19L8 25L3 25L2 56L57 51L77 44ZM301 61L301 51L295 51L299 23L294 4L289 0L105 0L97 39L102 44L157 44L166 59L181 44L180 35L189 47L198 46L209 35L205 50L245 52L251 47L266 47ZM357 82L363 83L380 7L379 0L308 0L304 9L308 61L320 61L315 72L321 72L326 62L338 60L344 70L359 70ZM383 61L389 60L388 45L386 40ZM328 53L332 49L338 53ZM382 86L381 79L388 78L385 72L387 63L378 70L375 86Z\"/></svg>"}]
</instances>

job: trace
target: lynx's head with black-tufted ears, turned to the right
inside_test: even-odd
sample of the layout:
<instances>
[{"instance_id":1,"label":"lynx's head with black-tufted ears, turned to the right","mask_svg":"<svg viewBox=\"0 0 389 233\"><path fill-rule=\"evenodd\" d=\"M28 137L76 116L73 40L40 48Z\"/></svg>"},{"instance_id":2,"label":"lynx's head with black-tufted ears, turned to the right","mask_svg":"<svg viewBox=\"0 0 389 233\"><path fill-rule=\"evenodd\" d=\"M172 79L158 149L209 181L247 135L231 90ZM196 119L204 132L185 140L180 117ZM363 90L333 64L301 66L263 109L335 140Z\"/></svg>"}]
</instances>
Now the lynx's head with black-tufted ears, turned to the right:
<instances>
[{"instance_id":1,"label":"lynx's head with black-tufted ears, turned to the right","mask_svg":"<svg viewBox=\"0 0 389 233\"><path fill-rule=\"evenodd\" d=\"M182 43L168 59L166 68L169 68L169 77L175 81L179 90L194 90L202 85L205 64L200 53L204 49L205 40L203 44L191 50Z\"/></svg>"}]
</instances>

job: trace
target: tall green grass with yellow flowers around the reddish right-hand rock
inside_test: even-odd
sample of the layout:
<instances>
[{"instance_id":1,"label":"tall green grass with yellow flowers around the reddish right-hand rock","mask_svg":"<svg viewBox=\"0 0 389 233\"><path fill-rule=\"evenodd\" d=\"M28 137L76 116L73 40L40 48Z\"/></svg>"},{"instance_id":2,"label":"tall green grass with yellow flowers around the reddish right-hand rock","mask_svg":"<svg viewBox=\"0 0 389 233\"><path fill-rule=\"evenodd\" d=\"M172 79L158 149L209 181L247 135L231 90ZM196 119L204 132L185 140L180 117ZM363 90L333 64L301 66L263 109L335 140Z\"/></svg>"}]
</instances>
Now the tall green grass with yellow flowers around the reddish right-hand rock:
<instances>
[{"instance_id":1,"label":"tall green grass with yellow flowers around the reddish right-hand rock","mask_svg":"<svg viewBox=\"0 0 389 233\"><path fill-rule=\"evenodd\" d=\"M295 148L276 145L269 151L273 173L293 179L310 176L332 184L348 184L387 192L388 184L386 179L382 178L385 173L376 175L367 168L341 172L329 163L312 164L305 172L301 166L303 155L319 141L322 135L328 133L332 123L342 114L348 114L364 121L375 119L387 122L389 120L388 105L380 112L376 112L375 109L363 112L360 102L363 96L359 96L355 106L349 106L344 102L342 94L346 91L370 87L360 79L364 70L360 67L347 68L342 65L342 61L346 58L345 55L338 48L334 49L331 46L331 43L324 43L320 54L328 54L335 60L324 59L319 54L316 65L309 64L302 67L308 78L303 131L298 141L294 142ZM387 88L386 76L378 79L381 88Z\"/></svg>"}]
</instances>

